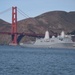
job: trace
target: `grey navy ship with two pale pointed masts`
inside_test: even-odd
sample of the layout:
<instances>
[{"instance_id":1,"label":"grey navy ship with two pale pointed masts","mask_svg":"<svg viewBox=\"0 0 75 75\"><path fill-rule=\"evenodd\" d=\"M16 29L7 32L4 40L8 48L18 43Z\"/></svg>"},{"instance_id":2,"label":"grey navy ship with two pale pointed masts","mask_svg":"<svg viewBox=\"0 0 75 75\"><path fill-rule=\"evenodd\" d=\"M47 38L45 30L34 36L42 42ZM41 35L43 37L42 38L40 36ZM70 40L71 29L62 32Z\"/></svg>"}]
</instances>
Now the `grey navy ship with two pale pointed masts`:
<instances>
[{"instance_id":1,"label":"grey navy ship with two pale pointed masts","mask_svg":"<svg viewBox=\"0 0 75 75\"><path fill-rule=\"evenodd\" d=\"M23 47L34 48L75 48L75 42L72 41L71 35L65 35L64 31L61 35L52 38L49 37L49 32L45 32L44 38L36 38L35 42L20 43Z\"/></svg>"}]
</instances>

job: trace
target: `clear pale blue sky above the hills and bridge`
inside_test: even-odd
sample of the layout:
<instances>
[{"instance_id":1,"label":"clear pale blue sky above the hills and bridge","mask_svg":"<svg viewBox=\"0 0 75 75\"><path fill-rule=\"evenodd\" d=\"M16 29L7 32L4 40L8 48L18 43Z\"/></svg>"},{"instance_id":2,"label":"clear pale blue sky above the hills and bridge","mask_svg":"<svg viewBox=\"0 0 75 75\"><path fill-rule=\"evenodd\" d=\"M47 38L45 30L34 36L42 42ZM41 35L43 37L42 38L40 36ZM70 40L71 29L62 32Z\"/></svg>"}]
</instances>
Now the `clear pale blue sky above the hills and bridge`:
<instances>
[{"instance_id":1,"label":"clear pale blue sky above the hills and bridge","mask_svg":"<svg viewBox=\"0 0 75 75\"><path fill-rule=\"evenodd\" d=\"M75 11L75 0L0 0L0 19L12 22L12 6L16 6L29 17L36 17L50 11ZM4 12L9 8L10 11ZM17 18L22 20L27 17L18 13Z\"/></svg>"}]
</instances>

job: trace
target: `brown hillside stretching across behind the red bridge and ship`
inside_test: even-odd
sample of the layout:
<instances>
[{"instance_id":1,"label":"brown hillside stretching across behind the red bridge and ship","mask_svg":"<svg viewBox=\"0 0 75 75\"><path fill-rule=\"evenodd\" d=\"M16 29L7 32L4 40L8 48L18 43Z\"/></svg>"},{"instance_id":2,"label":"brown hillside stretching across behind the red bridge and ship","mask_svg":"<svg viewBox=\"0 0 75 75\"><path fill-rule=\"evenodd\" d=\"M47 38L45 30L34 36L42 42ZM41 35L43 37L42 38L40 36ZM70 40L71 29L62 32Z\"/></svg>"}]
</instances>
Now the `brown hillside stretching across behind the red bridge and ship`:
<instances>
[{"instance_id":1,"label":"brown hillside stretching across behind the red bridge and ship","mask_svg":"<svg viewBox=\"0 0 75 75\"><path fill-rule=\"evenodd\" d=\"M51 11L34 18L31 17L18 21L18 32L41 34L45 33L46 30L48 30L50 34L59 34L62 30L64 30L65 33L75 31L75 12ZM0 31L10 31L10 24L0 19ZM0 35L0 39L1 37ZM6 40L5 42L9 41L6 37L4 37L4 39ZM31 37L25 36L21 42L28 41L29 39L33 40ZM2 39L2 41L4 40Z\"/></svg>"}]
</instances>

